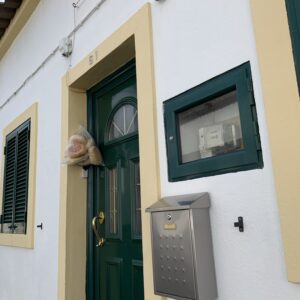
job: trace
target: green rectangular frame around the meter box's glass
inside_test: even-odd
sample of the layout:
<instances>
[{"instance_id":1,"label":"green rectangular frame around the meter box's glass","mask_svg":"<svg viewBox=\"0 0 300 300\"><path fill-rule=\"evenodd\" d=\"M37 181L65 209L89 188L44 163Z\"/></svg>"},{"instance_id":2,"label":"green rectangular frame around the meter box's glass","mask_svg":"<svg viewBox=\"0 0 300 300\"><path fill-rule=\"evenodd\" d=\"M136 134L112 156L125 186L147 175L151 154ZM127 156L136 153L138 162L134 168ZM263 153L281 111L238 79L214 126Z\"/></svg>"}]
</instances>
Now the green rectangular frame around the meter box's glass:
<instances>
[{"instance_id":1,"label":"green rectangular frame around the meter box's glass","mask_svg":"<svg viewBox=\"0 0 300 300\"><path fill-rule=\"evenodd\" d=\"M236 90L244 149L181 163L177 114ZM247 62L164 102L169 181L212 176L263 167L251 68Z\"/></svg>"}]
</instances>

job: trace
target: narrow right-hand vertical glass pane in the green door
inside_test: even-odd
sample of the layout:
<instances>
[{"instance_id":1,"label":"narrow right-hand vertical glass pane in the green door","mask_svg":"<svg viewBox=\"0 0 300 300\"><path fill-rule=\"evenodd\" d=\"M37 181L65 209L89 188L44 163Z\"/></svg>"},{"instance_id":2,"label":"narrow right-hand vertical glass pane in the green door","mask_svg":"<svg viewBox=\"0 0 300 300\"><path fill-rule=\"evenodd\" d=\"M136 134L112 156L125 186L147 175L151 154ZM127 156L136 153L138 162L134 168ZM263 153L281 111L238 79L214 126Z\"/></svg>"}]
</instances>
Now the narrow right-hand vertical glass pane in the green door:
<instances>
[{"instance_id":1,"label":"narrow right-hand vertical glass pane in the green door","mask_svg":"<svg viewBox=\"0 0 300 300\"><path fill-rule=\"evenodd\" d=\"M134 187L135 187L135 228L134 233L137 236L142 235L141 218L141 183L140 183L140 163L134 164Z\"/></svg>"}]
</instances>

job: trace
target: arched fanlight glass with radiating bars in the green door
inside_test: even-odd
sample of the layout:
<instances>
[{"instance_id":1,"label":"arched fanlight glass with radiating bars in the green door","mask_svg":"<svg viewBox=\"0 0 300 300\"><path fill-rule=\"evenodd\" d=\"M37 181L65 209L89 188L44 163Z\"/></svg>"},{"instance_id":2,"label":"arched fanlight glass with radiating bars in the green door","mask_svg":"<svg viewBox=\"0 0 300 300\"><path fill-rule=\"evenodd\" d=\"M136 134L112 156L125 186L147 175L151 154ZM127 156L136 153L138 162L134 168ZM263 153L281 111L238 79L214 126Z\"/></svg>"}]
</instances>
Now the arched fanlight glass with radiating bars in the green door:
<instances>
[{"instance_id":1,"label":"arched fanlight glass with radiating bars in the green door","mask_svg":"<svg viewBox=\"0 0 300 300\"><path fill-rule=\"evenodd\" d=\"M129 133L135 132L138 129L137 110L131 104L121 106L115 113L110 129L109 138L111 141Z\"/></svg>"}]
</instances>

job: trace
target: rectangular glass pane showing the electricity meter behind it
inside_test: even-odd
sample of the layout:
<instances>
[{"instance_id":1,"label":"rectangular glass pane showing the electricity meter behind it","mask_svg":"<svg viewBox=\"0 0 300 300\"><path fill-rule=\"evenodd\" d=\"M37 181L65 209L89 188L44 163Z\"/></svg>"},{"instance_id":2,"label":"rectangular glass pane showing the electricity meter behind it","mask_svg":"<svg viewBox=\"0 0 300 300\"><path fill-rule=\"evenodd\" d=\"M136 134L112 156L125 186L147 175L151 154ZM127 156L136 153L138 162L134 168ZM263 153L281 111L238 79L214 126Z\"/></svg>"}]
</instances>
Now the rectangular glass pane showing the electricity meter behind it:
<instances>
[{"instance_id":1,"label":"rectangular glass pane showing the electricity meter behind it","mask_svg":"<svg viewBox=\"0 0 300 300\"><path fill-rule=\"evenodd\" d=\"M182 163L244 148L236 91L178 113Z\"/></svg>"}]
</instances>

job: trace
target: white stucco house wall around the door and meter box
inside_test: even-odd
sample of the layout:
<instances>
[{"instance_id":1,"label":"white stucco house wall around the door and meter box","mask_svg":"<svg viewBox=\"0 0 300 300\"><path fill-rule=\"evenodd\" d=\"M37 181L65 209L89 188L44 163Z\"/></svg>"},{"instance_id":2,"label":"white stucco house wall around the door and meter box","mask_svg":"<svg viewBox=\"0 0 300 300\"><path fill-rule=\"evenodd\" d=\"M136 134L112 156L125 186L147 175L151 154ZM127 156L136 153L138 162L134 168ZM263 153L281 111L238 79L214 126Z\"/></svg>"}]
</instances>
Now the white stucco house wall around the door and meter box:
<instances>
[{"instance_id":1,"label":"white stucco house wall around the door and meter box","mask_svg":"<svg viewBox=\"0 0 300 300\"><path fill-rule=\"evenodd\" d=\"M0 105L73 28L70 0L41 0L0 61ZM39 103L35 248L0 246L1 300L57 297L61 77L146 0L107 0L76 33L70 59L56 53L0 110L0 132ZM209 192L220 300L296 300L287 282L249 0L165 0L152 5L162 195ZM82 0L77 23L98 3ZM264 168L168 182L162 103L246 61L251 62ZM2 149L2 138L0 138ZM245 232L233 227L243 216Z\"/></svg>"}]
</instances>

